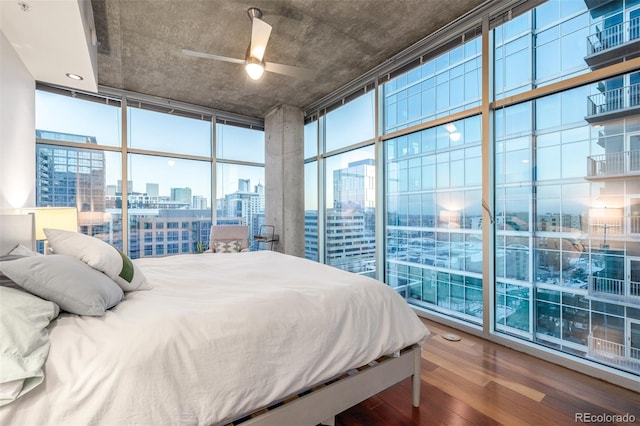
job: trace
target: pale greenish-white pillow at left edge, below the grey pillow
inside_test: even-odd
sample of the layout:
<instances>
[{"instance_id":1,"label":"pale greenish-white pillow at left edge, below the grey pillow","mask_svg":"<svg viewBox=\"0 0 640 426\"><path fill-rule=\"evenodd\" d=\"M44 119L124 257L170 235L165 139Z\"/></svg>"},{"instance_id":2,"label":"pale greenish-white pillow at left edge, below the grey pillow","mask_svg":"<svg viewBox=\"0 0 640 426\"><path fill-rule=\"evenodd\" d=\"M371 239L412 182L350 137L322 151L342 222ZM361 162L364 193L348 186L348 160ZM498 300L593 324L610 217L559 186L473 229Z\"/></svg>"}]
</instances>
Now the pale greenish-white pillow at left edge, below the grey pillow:
<instances>
[{"instance_id":1,"label":"pale greenish-white pillow at left edge, below the grey pillow","mask_svg":"<svg viewBox=\"0 0 640 426\"><path fill-rule=\"evenodd\" d=\"M49 322L59 308L22 290L0 287L0 406L44 380Z\"/></svg>"}]
</instances>

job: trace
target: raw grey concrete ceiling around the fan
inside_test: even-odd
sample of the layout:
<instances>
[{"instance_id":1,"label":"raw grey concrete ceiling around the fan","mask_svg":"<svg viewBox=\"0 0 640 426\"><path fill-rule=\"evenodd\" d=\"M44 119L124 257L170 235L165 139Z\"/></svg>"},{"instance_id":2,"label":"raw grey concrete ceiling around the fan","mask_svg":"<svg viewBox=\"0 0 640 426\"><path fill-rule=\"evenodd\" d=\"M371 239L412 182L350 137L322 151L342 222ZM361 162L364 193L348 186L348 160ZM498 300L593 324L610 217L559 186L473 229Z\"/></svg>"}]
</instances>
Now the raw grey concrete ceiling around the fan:
<instances>
[{"instance_id":1,"label":"raw grey concrete ceiling around the fan","mask_svg":"<svg viewBox=\"0 0 640 426\"><path fill-rule=\"evenodd\" d=\"M499 0L494 0L499 1ZM98 84L250 117L305 108L485 0L92 0ZM185 56L243 59L247 9L273 30L265 61L319 71L312 82Z\"/></svg>"}]
</instances>

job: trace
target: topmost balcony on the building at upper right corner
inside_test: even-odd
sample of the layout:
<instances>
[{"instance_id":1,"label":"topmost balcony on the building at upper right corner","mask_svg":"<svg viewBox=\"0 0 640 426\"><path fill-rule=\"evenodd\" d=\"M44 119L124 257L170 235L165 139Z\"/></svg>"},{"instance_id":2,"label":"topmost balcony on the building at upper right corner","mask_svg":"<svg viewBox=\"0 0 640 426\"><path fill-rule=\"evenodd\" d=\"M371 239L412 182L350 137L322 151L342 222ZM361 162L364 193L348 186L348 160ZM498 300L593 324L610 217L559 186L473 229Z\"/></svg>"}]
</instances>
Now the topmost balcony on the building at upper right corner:
<instances>
[{"instance_id":1,"label":"topmost balcony on the building at upper right corner","mask_svg":"<svg viewBox=\"0 0 640 426\"><path fill-rule=\"evenodd\" d=\"M585 62L591 69L640 56L640 18L590 34Z\"/></svg>"}]
</instances>

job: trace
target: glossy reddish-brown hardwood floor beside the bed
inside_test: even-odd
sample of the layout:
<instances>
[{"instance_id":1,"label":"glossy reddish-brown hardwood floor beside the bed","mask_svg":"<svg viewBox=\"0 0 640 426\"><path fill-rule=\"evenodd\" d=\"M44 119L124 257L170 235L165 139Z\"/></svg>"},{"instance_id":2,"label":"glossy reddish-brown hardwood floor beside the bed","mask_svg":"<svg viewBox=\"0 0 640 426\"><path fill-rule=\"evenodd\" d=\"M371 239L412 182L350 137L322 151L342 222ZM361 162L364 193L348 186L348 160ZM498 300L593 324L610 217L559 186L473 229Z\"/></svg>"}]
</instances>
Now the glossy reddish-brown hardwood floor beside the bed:
<instances>
[{"instance_id":1,"label":"glossy reddish-brown hardwood floor beside the bed","mask_svg":"<svg viewBox=\"0 0 640 426\"><path fill-rule=\"evenodd\" d=\"M405 380L341 413L336 425L640 424L638 393L423 321L432 335L422 354L420 407L411 406ZM448 332L462 340L443 339ZM590 421L576 419L580 413ZM587 418L603 414L628 416Z\"/></svg>"}]
</instances>

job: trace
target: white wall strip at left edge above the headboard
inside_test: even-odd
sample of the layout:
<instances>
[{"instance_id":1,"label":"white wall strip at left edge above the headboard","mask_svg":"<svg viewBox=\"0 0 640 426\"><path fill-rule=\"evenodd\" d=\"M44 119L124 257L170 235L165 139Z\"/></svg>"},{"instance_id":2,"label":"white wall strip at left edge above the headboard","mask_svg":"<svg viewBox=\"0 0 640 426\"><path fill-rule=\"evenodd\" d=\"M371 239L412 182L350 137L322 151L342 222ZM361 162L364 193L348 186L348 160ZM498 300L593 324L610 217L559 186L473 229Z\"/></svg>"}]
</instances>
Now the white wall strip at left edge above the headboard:
<instances>
[{"instance_id":1,"label":"white wall strip at left edge above the headboard","mask_svg":"<svg viewBox=\"0 0 640 426\"><path fill-rule=\"evenodd\" d=\"M35 205L35 80L0 32L0 212Z\"/></svg>"}]
</instances>

